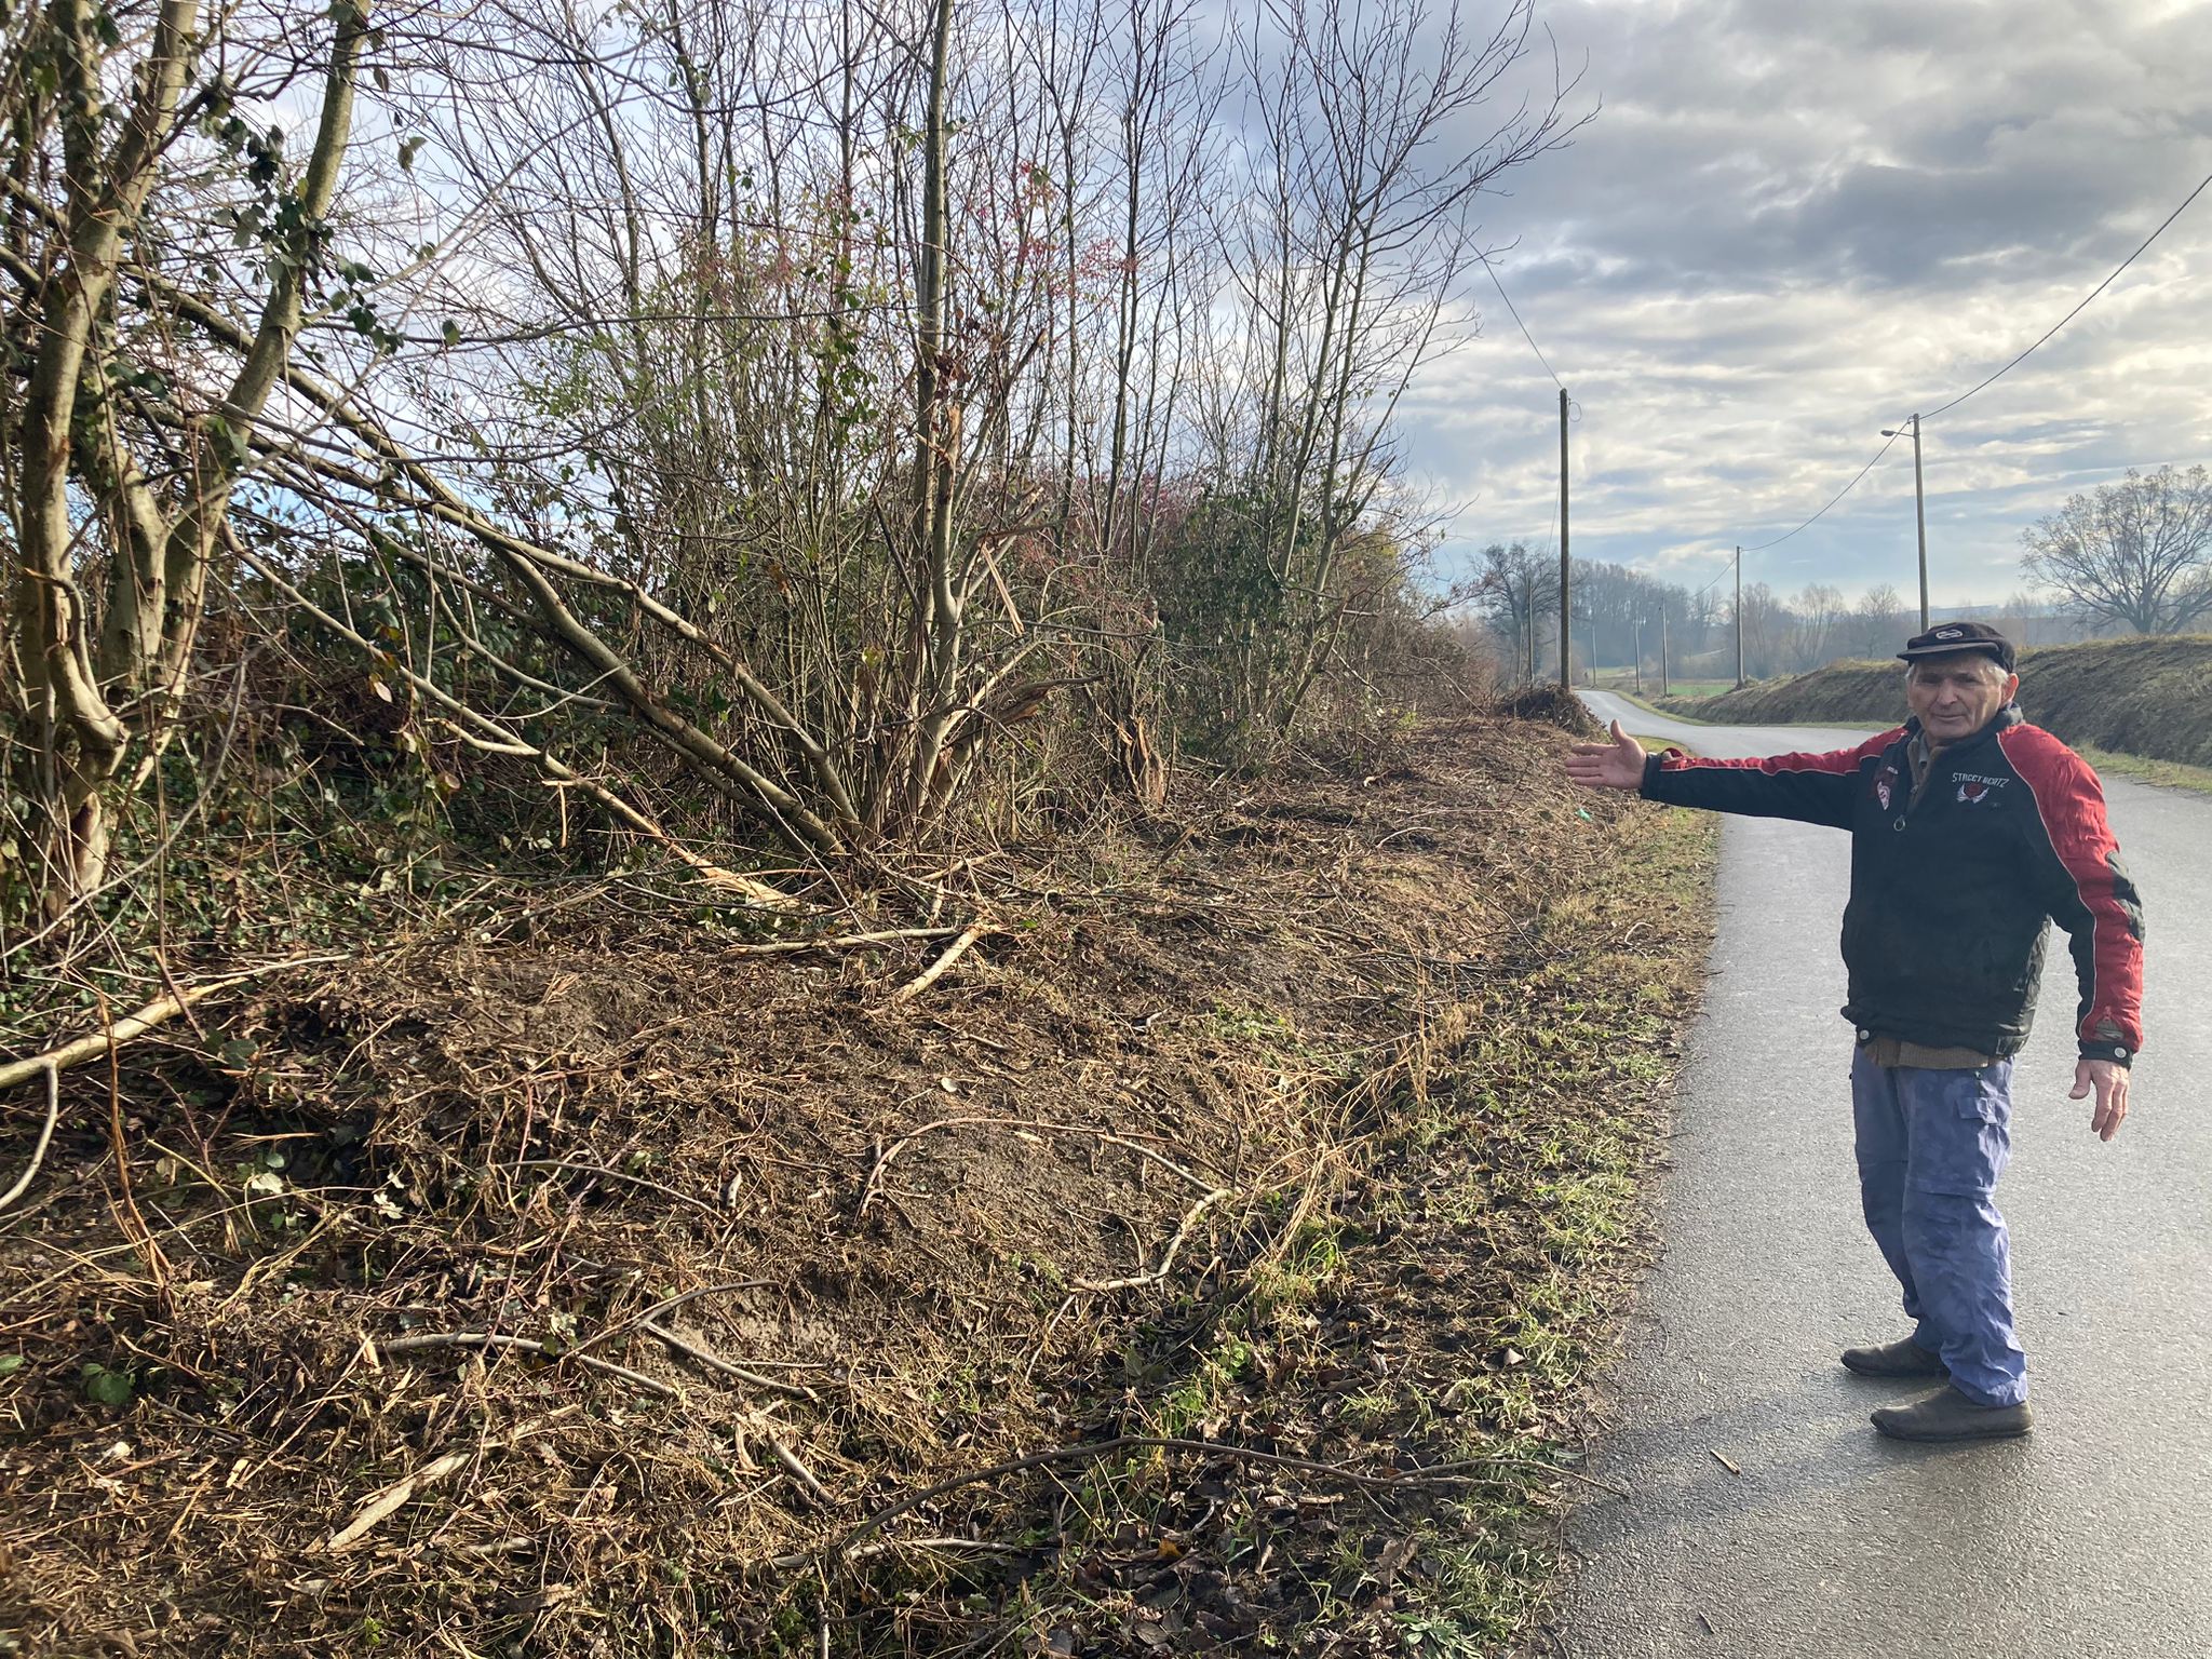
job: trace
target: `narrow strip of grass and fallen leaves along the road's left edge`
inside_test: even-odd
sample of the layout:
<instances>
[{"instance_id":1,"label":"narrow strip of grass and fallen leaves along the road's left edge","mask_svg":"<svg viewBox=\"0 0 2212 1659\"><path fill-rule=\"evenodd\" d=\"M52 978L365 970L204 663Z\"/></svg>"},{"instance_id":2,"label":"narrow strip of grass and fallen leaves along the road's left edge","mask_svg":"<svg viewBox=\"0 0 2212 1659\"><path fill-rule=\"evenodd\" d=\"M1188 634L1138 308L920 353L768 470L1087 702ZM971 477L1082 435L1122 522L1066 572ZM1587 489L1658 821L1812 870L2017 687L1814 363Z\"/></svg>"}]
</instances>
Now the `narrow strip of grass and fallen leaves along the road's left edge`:
<instances>
[{"instance_id":1,"label":"narrow strip of grass and fallen leaves along the road's left edge","mask_svg":"<svg viewBox=\"0 0 2212 1659\"><path fill-rule=\"evenodd\" d=\"M1440 1093L1438 1110L1478 1155L1451 1186L1427 1188L1425 1203L1455 1228L1500 1214L1531 1217L1533 1228L1482 1338L1513 1363L1396 1389L1400 1433L1449 1413L1455 1453L1500 1469L1495 1484L1442 1504L1420 1528L1425 1571L1396 1588L1394 1613L1409 1655L1513 1652L1551 1590L1555 1498L1542 1491L1542 1469L1575 1455L1559 1422L1613 1352L1644 1225L1641 1181L1679 1060L1674 1033L1701 969L1679 940L1639 947L1628 925L1701 918L1712 852L1710 814L1624 818L1610 867L1546 918L1546 936L1590 947L1531 975L1520 1009L1478 1026L1455 1060L1455 1086ZM1573 1106L1562 1110L1562 1099ZM1363 1425L1385 1416L1380 1394L1358 1398Z\"/></svg>"}]
</instances>

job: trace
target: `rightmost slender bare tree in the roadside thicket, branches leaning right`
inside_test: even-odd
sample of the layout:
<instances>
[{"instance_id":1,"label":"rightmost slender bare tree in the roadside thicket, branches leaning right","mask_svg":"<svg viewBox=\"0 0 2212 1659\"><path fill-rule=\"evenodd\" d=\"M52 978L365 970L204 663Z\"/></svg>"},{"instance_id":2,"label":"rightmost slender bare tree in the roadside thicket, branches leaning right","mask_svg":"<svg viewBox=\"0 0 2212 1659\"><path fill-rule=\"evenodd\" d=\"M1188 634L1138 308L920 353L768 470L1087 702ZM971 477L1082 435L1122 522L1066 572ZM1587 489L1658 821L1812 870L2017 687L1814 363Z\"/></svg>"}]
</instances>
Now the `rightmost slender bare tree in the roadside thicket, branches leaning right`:
<instances>
[{"instance_id":1,"label":"rightmost slender bare tree in the roadside thicket, branches leaning right","mask_svg":"<svg viewBox=\"0 0 2212 1659\"><path fill-rule=\"evenodd\" d=\"M1464 316L1478 197L1573 126L1557 84L1493 111L1531 27L1522 0L1489 31L1458 4L1279 0L1239 35L1241 175L1214 210L1234 341L1201 376L1212 489L1164 582L1232 730L1298 717L1347 538L1405 509L1394 416Z\"/></svg>"}]
</instances>

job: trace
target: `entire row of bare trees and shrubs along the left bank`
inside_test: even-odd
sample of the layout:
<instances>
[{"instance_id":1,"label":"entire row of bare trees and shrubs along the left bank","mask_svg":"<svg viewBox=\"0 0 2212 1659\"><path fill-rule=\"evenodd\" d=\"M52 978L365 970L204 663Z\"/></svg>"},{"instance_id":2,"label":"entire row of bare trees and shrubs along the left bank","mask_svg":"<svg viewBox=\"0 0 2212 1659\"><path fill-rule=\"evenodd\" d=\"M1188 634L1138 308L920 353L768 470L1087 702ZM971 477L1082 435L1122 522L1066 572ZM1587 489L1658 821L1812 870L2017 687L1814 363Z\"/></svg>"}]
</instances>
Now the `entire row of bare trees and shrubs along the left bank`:
<instances>
[{"instance_id":1,"label":"entire row of bare trees and shrubs along the left bank","mask_svg":"<svg viewBox=\"0 0 2212 1659\"><path fill-rule=\"evenodd\" d=\"M1526 0L248 15L0 38L4 717L64 909L210 602L365 653L418 748L821 860L1042 770L1002 739L1062 692L1157 799L1170 688L1274 741L1427 626L1394 422L1568 131L1506 95Z\"/></svg>"}]
</instances>

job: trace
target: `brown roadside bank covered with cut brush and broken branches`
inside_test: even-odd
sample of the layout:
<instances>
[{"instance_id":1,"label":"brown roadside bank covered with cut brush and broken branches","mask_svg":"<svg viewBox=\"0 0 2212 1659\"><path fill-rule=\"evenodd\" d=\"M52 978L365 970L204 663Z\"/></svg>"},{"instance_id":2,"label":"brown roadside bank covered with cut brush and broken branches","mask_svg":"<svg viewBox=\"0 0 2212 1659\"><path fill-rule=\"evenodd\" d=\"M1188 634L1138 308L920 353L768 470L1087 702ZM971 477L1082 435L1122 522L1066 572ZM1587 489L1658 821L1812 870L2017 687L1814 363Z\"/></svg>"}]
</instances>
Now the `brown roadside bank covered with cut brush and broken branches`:
<instances>
[{"instance_id":1,"label":"brown roadside bank covered with cut brush and broken branches","mask_svg":"<svg viewBox=\"0 0 2212 1659\"><path fill-rule=\"evenodd\" d=\"M1502 1635L1701 949L1575 909L1659 814L1559 748L752 938L535 894L62 1073L0 1650L1400 1652L1469 1575Z\"/></svg>"}]
</instances>

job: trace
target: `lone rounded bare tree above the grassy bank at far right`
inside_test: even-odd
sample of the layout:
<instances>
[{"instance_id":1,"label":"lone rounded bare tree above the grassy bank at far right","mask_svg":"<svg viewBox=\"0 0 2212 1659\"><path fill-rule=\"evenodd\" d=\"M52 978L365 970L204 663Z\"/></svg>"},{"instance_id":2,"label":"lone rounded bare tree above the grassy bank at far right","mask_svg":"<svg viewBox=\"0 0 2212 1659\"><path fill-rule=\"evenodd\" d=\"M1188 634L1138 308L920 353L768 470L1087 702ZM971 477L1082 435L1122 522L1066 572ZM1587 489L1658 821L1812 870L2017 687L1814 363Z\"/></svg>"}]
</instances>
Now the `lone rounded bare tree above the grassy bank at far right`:
<instances>
[{"instance_id":1,"label":"lone rounded bare tree above the grassy bank at far right","mask_svg":"<svg viewBox=\"0 0 2212 1659\"><path fill-rule=\"evenodd\" d=\"M2070 495L2020 535L2020 568L2068 608L2137 633L2179 633L2212 615L2212 476L2132 467Z\"/></svg>"}]
</instances>

